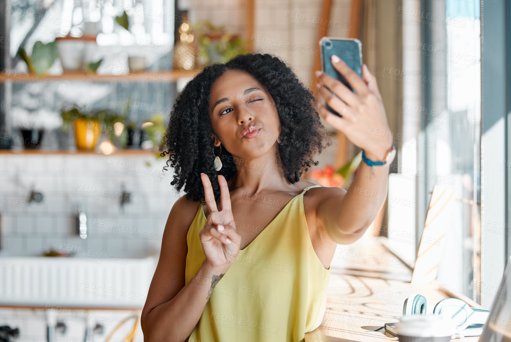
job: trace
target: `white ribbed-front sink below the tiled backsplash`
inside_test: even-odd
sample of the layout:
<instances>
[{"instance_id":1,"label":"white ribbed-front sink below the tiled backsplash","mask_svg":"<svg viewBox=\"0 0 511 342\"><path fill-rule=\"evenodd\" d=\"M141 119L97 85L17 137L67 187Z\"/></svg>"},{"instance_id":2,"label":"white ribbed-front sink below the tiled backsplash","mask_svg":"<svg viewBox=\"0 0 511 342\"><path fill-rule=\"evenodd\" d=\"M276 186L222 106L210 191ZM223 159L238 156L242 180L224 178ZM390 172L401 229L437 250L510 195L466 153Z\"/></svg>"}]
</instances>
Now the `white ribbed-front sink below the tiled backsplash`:
<instances>
[{"instance_id":1,"label":"white ribbed-front sink below the tiled backsplash","mask_svg":"<svg viewBox=\"0 0 511 342\"><path fill-rule=\"evenodd\" d=\"M143 308L157 260L3 256L0 305Z\"/></svg>"}]
</instances>

